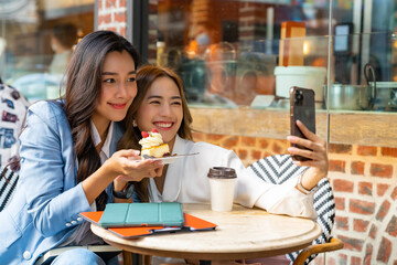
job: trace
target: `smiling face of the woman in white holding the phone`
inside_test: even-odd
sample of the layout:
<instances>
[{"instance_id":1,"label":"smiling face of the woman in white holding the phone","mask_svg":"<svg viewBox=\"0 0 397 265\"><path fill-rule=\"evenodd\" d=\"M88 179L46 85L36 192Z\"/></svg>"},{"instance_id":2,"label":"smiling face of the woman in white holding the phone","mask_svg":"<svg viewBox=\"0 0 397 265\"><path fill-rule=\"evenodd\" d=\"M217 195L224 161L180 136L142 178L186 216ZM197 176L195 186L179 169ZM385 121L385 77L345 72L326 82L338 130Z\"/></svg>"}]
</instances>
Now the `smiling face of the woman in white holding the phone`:
<instances>
[{"instance_id":1,"label":"smiling face of the woman in white holding the phone","mask_svg":"<svg viewBox=\"0 0 397 265\"><path fill-rule=\"evenodd\" d=\"M149 87L135 119L141 131L155 128L172 150L183 118L179 88L170 77L159 77Z\"/></svg>"}]
</instances>

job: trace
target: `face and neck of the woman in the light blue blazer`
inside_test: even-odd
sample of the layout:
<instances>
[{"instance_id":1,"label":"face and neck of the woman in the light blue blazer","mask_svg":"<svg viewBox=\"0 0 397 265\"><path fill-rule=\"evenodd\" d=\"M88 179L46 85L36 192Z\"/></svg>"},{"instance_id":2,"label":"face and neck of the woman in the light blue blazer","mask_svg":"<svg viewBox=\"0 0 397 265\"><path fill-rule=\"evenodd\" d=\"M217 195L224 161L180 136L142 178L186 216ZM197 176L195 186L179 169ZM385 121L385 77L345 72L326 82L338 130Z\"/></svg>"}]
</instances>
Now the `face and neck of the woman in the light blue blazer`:
<instances>
[{"instance_id":1,"label":"face and neck of the woman in the light blue blazer","mask_svg":"<svg viewBox=\"0 0 397 265\"><path fill-rule=\"evenodd\" d=\"M93 121L104 132L111 120L120 121L137 95L136 68L131 55L122 51L106 55L101 72L100 98Z\"/></svg>"}]
</instances>

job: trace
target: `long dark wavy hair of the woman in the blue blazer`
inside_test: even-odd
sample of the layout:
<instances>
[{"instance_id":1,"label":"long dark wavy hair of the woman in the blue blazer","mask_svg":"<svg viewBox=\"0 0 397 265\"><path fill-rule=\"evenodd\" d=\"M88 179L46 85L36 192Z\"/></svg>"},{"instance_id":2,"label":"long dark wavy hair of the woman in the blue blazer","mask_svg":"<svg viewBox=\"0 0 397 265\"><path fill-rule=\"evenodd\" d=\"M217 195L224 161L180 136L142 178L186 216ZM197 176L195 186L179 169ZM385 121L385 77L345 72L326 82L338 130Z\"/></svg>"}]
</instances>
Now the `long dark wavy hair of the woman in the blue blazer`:
<instances>
[{"instance_id":1,"label":"long dark wavy hair of the woman in the blue blazer","mask_svg":"<svg viewBox=\"0 0 397 265\"><path fill-rule=\"evenodd\" d=\"M127 51L138 68L140 57L137 50L124 36L112 31L96 31L83 38L66 68L64 102L78 161L77 183L101 166L90 135L90 118L100 97L105 56L115 51ZM107 195L103 191L96 199L98 210L103 210L106 202Z\"/></svg>"}]
</instances>

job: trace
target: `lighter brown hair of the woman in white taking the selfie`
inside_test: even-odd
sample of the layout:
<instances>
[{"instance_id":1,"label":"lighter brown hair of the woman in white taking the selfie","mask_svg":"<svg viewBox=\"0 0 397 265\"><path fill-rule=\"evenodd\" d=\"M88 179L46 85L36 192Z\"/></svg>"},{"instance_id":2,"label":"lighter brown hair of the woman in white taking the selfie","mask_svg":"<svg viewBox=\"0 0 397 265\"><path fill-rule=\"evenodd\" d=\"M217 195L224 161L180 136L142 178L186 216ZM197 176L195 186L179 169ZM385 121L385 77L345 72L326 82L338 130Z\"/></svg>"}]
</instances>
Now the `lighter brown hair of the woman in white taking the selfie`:
<instances>
[{"instance_id":1,"label":"lighter brown hair of the woman in white taking the selfie","mask_svg":"<svg viewBox=\"0 0 397 265\"><path fill-rule=\"evenodd\" d=\"M135 97L130 108L128 109L127 117L124 120L126 127L126 134L119 141L119 149L136 149L140 150L141 147L139 145L139 140L141 139L141 131L138 127L133 127L133 118L143 102L146 94L148 93L149 88L153 84L157 78L160 77L169 77L171 78L178 86L178 89L181 94L182 99L182 112L183 112L183 119L181 123L181 127L178 130L178 135L187 140L193 140L192 137L192 115L187 107L187 100L184 96L183 85L181 78L173 72L171 68L158 65L144 65L137 72L137 86L138 86L138 94ZM136 184L136 191L141 201L148 202L149 194L148 194L148 184L149 179L143 179L142 181Z\"/></svg>"}]
</instances>

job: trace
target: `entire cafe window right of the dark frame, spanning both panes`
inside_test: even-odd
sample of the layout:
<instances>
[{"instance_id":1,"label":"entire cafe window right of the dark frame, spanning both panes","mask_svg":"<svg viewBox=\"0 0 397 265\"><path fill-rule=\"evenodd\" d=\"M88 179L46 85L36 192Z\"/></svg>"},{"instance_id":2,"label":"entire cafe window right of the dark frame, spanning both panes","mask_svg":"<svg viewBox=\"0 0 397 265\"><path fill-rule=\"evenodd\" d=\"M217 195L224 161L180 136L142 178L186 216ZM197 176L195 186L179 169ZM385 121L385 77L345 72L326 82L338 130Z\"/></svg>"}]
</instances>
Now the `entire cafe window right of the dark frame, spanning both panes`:
<instances>
[{"instance_id":1,"label":"entire cafe window right of the dark frame, spanning both panes","mask_svg":"<svg viewBox=\"0 0 397 265\"><path fill-rule=\"evenodd\" d=\"M363 75L367 63L376 68L380 86L394 87L397 80L393 33L397 12L390 0L372 2L371 7L365 6L369 2L339 0L332 7L322 0L149 2L149 62L176 70L192 106L288 107L285 87L290 84L285 76L278 78L281 72L316 78L291 82L313 88L318 108L326 108L329 82L330 89L353 85L366 86L365 93L372 91ZM333 18L329 18L330 8ZM384 14L382 20L377 19L379 13ZM304 34L283 38L285 22L302 22ZM280 57L285 54L300 59L286 65ZM331 75L323 78L329 61ZM390 104L376 107L376 100L361 110L395 110Z\"/></svg>"}]
</instances>

